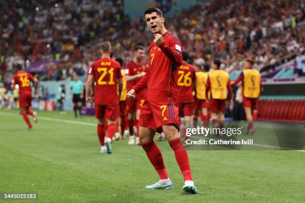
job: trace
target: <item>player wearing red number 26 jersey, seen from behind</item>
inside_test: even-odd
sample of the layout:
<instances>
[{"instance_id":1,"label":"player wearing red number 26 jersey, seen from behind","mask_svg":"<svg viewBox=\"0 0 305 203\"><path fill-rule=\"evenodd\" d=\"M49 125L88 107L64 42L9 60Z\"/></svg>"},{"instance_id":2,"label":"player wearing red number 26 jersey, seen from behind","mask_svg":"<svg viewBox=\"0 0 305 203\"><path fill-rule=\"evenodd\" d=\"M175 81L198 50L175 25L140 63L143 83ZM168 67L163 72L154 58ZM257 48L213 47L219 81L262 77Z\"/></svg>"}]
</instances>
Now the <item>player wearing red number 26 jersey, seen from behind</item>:
<instances>
[{"instance_id":1,"label":"player wearing red number 26 jersey, seen from behind","mask_svg":"<svg viewBox=\"0 0 305 203\"><path fill-rule=\"evenodd\" d=\"M188 53L182 51L182 64L178 68L178 106L179 106L179 115L181 116L181 112L183 111L185 125L180 123L180 128L182 131L182 135L185 135L185 128L192 127L191 120L194 117L194 98L193 98L193 90L195 89L195 68L188 64L186 61L188 60Z\"/></svg>"}]
</instances>

